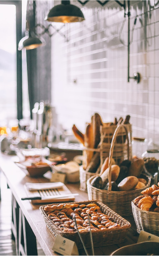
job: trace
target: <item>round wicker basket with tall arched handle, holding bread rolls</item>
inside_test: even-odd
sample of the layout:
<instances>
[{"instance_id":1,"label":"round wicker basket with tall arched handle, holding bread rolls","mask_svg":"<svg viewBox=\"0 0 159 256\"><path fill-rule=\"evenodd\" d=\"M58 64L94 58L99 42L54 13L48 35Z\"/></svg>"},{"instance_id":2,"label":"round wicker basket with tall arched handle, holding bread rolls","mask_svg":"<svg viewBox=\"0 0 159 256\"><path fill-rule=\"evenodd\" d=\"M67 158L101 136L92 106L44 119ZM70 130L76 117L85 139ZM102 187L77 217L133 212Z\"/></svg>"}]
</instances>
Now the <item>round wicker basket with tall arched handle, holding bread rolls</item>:
<instances>
[{"instance_id":1,"label":"round wicker basket with tall arched handle, holding bread rolls","mask_svg":"<svg viewBox=\"0 0 159 256\"><path fill-rule=\"evenodd\" d=\"M110 207L113 211L117 212L118 214L122 216L130 216L133 214L131 209L131 201L134 200L135 197L139 196L140 193L143 191L143 188L135 189L133 191L123 191L123 192L116 192L111 191L111 159L113 155L113 146L114 141L116 140L117 134L119 129L122 127L125 127L124 125L119 125L114 132L112 142L111 142L111 148L110 148L110 155L109 155L109 188L108 191L104 189L98 189L93 186L91 186L91 181L94 177L91 177L89 180L87 180L87 192L89 195L89 200L98 200L101 201L104 204L107 204L108 207ZM125 127L126 129L126 127ZM127 139L128 134L126 133ZM129 139L128 139L129 140ZM128 159L129 159L129 142L128 142ZM145 188L149 187L151 183L151 178L143 175L141 176L147 180L147 185ZM144 189L145 189L144 188Z\"/></svg>"}]
</instances>

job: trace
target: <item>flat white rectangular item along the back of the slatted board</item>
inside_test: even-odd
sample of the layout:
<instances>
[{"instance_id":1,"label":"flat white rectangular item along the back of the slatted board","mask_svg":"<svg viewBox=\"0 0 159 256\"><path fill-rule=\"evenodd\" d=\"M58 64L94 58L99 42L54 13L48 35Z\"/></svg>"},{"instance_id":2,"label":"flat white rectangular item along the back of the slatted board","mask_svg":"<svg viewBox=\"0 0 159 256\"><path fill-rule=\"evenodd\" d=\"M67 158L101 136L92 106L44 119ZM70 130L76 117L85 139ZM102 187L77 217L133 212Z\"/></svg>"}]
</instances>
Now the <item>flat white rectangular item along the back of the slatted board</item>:
<instances>
[{"instance_id":1,"label":"flat white rectangular item along the back of the slatted board","mask_svg":"<svg viewBox=\"0 0 159 256\"><path fill-rule=\"evenodd\" d=\"M61 182L50 182L50 183L25 183L28 191L37 191L42 189L55 189L64 186Z\"/></svg>"}]
</instances>

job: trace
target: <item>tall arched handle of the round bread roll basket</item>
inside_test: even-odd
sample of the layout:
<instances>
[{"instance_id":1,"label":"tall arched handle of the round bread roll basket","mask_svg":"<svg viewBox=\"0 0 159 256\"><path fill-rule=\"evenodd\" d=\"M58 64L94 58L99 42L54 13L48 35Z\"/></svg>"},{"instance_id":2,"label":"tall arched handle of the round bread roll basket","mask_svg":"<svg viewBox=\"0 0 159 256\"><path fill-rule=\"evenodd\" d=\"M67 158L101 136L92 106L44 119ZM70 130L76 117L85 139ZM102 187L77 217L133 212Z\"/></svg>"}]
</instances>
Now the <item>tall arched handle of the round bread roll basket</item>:
<instances>
[{"instance_id":1,"label":"tall arched handle of the round bread roll basket","mask_svg":"<svg viewBox=\"0 0 159 256\"><path fill-rule=\"evenodd\" d=\"M118 125L116 130L114 131L113 137L112 137L112 141L111 141L111 146L110 146L110 152L109 152L109 163L108 163L108 168L109 168L109 174L108 174L108 180L109 180L109 187L108 187L108 191L111 191L111 160L112 160L112 155L113 155L113 149L114 149L114 144L116 142L116 138L118 135L118 132L120 130L120 128L124 128L126 131L126 138L127 138L127 146L128 146L128 159L129 159L129 137L128 137L128 131L125 125Z\"/></svg>"}]
</instances>

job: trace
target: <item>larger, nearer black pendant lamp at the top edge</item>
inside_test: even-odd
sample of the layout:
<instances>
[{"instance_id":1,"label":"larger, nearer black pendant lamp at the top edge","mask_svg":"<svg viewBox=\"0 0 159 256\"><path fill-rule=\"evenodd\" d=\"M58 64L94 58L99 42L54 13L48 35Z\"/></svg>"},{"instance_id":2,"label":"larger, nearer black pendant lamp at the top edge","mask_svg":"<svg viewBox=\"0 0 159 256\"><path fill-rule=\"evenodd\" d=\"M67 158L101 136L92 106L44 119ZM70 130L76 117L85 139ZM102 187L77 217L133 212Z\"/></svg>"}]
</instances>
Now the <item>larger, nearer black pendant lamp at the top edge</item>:
<instances>
[{"instance_id":1,"label":"larger, nearer black pendant lamp at the top edge","mask_svg":"<svg viewBox=\"0 0 159 256\"><path fill-rule=\"evenodd\" d=\"M70 4L69 0L61 0L61 4L55 5L47 14L45 20L51 22L78 22L84 20L80 8Z\"/></svg>"}]
</instances>

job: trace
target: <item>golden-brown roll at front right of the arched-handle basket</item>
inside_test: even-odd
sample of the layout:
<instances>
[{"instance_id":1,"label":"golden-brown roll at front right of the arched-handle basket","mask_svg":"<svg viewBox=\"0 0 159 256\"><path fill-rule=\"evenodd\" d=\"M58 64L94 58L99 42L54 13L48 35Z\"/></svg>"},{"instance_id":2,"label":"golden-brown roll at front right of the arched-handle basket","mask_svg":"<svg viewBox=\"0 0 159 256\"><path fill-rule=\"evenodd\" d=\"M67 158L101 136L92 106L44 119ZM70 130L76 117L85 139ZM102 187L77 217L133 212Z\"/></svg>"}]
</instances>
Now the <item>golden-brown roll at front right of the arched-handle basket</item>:
<instances>
[{"instance_id":1,"label":"golden-brown roll at front right of the arched-handle basket","mask_svg":"<svg viewBox=\"0 0 159 256\"><path fill-rule=\"evenodd\" d=\"M138 184L138 178L135 176L129 176L123 179L119 183L118 189L119 191L130 191L130 190L133 190L137 184Z\"/></svg>"}]
</instances>

